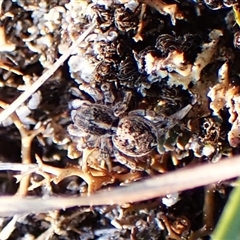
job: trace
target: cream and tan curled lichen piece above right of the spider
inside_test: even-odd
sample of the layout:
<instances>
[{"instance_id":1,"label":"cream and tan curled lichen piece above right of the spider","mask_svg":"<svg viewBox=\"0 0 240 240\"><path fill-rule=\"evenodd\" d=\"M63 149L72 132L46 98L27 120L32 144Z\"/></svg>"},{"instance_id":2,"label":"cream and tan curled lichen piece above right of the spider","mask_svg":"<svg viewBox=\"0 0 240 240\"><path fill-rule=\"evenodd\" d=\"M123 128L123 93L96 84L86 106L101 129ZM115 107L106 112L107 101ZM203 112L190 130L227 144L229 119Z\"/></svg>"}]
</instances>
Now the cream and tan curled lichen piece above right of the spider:
<instances>
[{"instance_id":1,"label":"cream and tan curled lichen piece above right of the spider","mask_svg":"<svg viewBox=\"0 0 240 240\"><path fill-rule=\"evenodd\" d=\"M138 60L139 68L144 68L148 74L149 82L161 80L168 77L170 86L182 86L183 89L188 89L191 82L195 83L200 80L202 70L214 61L214 54L217 50L217 44L222 32L213 30L209 34L210 42L204 43L201 47L202 52L199 53L193 64L185 60L184 52L174 50L170 51L167 57L155 57L153 52L147 52L140 61ZM142 65L142 62L144 65Z\"/></svg>"}]
</instances>

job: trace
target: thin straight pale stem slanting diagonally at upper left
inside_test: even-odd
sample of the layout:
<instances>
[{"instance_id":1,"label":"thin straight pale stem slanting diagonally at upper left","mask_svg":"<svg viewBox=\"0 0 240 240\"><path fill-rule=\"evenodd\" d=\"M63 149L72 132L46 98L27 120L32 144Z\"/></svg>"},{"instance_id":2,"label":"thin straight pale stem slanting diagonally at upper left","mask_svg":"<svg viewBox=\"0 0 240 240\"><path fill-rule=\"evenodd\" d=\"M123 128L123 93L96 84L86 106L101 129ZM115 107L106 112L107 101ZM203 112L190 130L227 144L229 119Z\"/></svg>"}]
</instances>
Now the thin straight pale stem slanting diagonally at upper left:
<instances>
[{"instance_id":1,"label":"thin straight pale stem slanting diagonally at upper left","mask_svg":"<svg viewBox=\"0 0 240 240\"><path fill-rule=\"evenodd\" d=\"M54 72L67 60L73 50L91 33L95 28L92 24L73 44L72 46L49 68L43 75L35 81L24 93L22 93L8 108L0 113L0 122L9 117L24 101L26 101L38 88L51 77Z\"/></svg>"}]
</instances>

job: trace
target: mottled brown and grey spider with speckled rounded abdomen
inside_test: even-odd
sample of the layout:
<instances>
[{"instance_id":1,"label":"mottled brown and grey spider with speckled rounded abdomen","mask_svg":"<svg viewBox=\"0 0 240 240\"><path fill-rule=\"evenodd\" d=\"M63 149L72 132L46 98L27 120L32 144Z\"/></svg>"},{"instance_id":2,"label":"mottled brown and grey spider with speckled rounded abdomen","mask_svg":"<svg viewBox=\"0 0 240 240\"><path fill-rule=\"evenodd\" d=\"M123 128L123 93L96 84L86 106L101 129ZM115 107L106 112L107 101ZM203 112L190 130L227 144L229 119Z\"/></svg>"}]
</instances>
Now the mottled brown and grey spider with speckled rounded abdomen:
<instances>
[{"instance_id":1,"label":"mottled brown and grey spider with speckled rounded abdomen","mask_svg":"<svg viewBox=\"0 0 240 240\"><path fill-rule=\"evenodd\" d=\"M109 99L111 91L106 89L104 98ZM153 111L143 109L126 113L130 99L131 93L126 92L123 101L115 104L86 100L74 100L72 104L73 124L68 126L68 132L81 138L78 150L99 148L99 161L104 160L109 169L110 156L114 156L132 170L144 170L137 159L158 147L159 137L178 124L192 108L189 104L170 117L163 114L156 116Z\"/></svg>"}]
</instances>

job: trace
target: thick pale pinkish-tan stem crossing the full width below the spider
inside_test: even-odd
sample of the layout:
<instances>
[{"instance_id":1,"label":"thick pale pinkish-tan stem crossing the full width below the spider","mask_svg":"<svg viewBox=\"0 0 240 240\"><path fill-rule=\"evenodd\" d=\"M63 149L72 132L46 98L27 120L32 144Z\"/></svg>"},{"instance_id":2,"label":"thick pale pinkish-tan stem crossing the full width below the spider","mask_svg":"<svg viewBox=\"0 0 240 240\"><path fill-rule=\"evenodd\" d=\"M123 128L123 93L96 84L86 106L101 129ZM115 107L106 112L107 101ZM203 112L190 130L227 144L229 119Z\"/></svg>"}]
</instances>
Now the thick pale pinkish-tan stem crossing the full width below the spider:
<instances>
[{"instance_id":1,"label":"thick pale pinkish-tan stem crossing the full width below the spider","mask_svg":"<svg viewBox=\"0 0 240 240\"><path fill-rule=\"evenodd\" d=\"M94 206L137 202L167 193L184 191L215 183L240 175L240 157L224 159L214 164L180 169L161 176L132 183L128 187L118 187L109 191L99 191L86 197L20 198L0 197L0 216L11 216L31 212L45 212L73 206Z\"/></svg>"}]
</instances>

